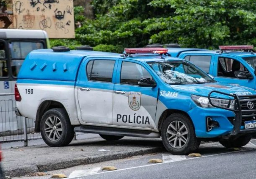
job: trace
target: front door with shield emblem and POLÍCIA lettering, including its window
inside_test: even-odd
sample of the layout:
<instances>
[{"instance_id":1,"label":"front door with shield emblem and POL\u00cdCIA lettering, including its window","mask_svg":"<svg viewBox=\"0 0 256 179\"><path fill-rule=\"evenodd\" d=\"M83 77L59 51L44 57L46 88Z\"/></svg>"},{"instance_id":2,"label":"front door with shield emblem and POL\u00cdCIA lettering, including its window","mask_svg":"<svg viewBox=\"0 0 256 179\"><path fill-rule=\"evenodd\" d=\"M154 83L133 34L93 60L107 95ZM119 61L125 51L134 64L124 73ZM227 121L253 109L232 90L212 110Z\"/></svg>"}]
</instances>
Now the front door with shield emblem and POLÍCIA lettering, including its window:
<instances>
[{"instance_id":1,"label":"front door with shield emblem and POL\u00cdCIA lettering, including its window","mask_svg":"<svg viewBox=\"0 0 256 179\"><path fill-rule=\"evenodd\" d=\"M126 66L126 70L123 65L123 71L118 76L119 79L121 77L119 82L124 84L114 85L112 123L118 126L154 128L158 87L136 85L136 80L152 76L140 64L128 63L130 64ZM120 61L118 71L121 66Z\"/></svg>"}]
</instances>

